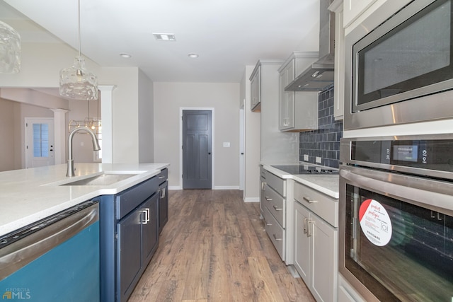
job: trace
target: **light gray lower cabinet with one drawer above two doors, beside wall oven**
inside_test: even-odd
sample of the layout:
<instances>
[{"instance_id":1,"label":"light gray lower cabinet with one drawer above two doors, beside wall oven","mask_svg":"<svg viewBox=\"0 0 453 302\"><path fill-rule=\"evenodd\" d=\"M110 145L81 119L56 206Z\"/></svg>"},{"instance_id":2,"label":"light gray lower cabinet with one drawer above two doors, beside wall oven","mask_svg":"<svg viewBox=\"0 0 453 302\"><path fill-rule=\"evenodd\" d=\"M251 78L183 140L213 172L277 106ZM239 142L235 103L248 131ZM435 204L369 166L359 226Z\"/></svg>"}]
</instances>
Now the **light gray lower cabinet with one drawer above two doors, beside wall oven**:
<instances>
[{"instance_id":1,"label":"light gray lower cabinet with one drawer above two doors, beside wall oven","mask_svg":"<svg viewBox=\"0 0 453 302\"><path fill-rule=\"evenodd\" d=\"M294 199L294 267L316 301L337 301L338 199L299 182Z\"/></svg>"}]
</instances>

